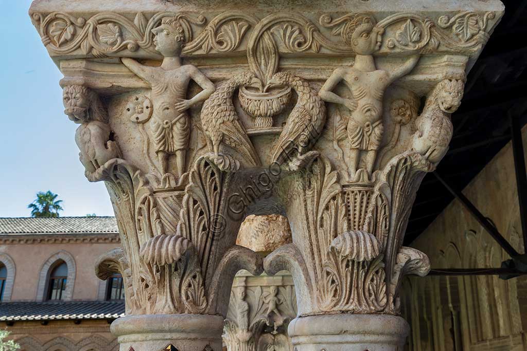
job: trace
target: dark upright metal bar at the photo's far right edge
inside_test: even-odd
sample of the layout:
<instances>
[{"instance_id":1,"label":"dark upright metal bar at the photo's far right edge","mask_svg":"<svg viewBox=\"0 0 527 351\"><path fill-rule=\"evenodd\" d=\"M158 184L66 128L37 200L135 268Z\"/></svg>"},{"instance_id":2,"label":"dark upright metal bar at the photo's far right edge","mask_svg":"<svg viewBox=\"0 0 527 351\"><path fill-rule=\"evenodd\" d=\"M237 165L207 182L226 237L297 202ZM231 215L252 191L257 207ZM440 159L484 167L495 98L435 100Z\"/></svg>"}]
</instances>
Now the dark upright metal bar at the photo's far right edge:
<instances>
[{"instance_id":1,"label":"dark upright metal bar at the photo's far right edge","mask_svg":"<svg viewBox=\"0 0 527 351\"><path fill-rule=\"evenodd\" d=\"M525 156L523 153L522 131L519 118L514 118L512 117L512 114L509 113L509 120L511 122L512 154L514 157L518 202L520 204L523 247L527 253L527 173L525 172Z\"/></svg>"}]
</instances>

